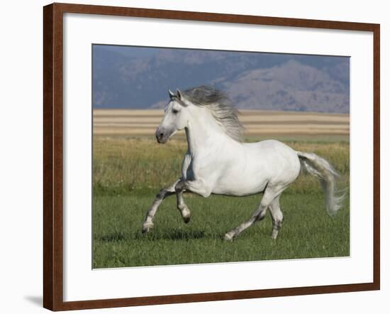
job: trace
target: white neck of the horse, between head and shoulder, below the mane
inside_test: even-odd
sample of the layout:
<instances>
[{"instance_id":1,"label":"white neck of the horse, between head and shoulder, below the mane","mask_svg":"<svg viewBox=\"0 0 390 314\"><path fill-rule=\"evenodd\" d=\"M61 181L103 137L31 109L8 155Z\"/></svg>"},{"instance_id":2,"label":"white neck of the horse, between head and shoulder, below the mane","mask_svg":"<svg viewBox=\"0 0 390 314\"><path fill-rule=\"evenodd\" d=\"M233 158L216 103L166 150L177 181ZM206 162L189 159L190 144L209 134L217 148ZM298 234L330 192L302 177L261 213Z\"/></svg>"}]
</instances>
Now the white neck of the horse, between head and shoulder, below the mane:
<instances>
[{"instance_id":1,"label":"white neck of the horse, between head and shoulder, below the mane","mask_svg":"<svg viewBox=\"0 0 390 314\"><path fill-rule=\"evenodd\" d=\"M210 152L218 146L228 145L233 139L225 134L213 117L194 117L186 127L186 138L191 156Z\"/></svg>"}]
</instances>

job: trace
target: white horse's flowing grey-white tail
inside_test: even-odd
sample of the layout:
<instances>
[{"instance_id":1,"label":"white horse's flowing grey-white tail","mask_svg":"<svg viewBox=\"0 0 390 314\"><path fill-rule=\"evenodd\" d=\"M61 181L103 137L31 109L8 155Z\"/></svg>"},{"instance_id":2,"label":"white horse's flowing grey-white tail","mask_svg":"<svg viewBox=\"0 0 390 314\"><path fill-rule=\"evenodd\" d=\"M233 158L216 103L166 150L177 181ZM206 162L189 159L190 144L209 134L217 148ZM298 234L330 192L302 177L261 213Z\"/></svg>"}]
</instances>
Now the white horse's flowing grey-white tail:
<instances>
[{"instance_id":1,"label":"white horse's flowing grey-white tail","mask_svg":"<svg viewBox=\"0 0 390 314\"><path fill-rule=\"evenodd\" d=\"M296 153L301 162L301 169L320 179L325 194L326 210L330 216L335 215L345 197L345 195L336 195L335 183L340 175L328 161L315 153L302 153L301 151L296 151Z\"/></svg>"}]
</instances>

